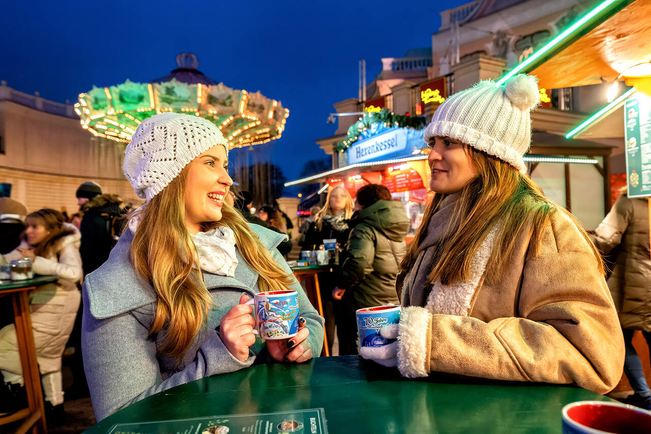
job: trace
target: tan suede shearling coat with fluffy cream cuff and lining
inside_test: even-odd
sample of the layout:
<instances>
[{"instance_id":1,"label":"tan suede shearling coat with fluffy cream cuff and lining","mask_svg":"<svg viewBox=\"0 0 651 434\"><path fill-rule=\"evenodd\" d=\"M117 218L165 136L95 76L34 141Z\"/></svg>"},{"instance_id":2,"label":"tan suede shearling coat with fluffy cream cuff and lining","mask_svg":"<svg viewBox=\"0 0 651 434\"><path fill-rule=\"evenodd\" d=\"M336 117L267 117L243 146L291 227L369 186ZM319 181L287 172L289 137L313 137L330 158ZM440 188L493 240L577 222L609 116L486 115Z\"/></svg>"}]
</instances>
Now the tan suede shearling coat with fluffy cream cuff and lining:
<instances>
[{"instance_id":1,"label":"tan suede shearling coat with fluffy cream cuff and lining","mask_svg":"<svg viewBox=\"0 0 651 434\"><path fill-rule=\"evenodd\" d=\"M454 209L447 205L448 214L445 209L437 211L430 228L443 231ZM409 303L419 300L413 294L418 289L409 284L418 270L398 279L403 305L398 332L402 375L424 377L441 371L498 380L574 383L601 394L616 386L624 365L624 340L589 243L560 210L544 229L536 255L530 246L531 232L529 228L517 235L514 255L501 263L502 276L484 275L490 252L499 252L482 246L469 282L430 291L424 295L425 306ZM422 257L417 264L421 272L431 270L432 264L422 264ZM461 313L440 312L459 306L466 306Z\"/></svg>"}]
</instances>

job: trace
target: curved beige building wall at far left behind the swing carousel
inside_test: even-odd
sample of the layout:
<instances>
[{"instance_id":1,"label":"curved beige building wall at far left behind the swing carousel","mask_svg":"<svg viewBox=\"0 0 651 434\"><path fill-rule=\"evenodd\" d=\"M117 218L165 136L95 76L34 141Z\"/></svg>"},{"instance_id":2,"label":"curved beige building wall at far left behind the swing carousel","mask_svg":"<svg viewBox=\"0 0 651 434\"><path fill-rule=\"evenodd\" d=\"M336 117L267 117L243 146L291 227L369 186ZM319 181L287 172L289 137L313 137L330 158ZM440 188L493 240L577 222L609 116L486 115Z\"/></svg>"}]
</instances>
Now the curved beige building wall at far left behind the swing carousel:
<instances>
[{"instance_id":1,"label":"curved beige building wall at far left behind the swing carousel","mask_svg":"<svg viewBox=\"0 0 651 434\"><path fill-rule=\"evenodd\" d=\"M29 212L41 208L74 214L79 184L94 181L105 193L140 203L122 174L126 143L93 137L70 104L0 85L0 182Z\"/></svg>"}]
</instances>

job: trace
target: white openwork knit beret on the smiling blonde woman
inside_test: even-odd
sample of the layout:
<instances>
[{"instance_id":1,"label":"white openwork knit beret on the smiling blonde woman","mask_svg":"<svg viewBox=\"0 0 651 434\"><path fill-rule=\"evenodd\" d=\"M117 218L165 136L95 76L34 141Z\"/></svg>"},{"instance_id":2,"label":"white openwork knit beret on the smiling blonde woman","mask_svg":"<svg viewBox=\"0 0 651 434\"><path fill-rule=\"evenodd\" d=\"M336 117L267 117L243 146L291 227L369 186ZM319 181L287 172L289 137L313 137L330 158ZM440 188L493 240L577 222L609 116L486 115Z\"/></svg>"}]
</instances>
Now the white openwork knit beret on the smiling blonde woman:
<instances>
[{"instance_id":1,"label":"white openwork knit beret on the smiling blonde woman","mask_svg":"<svg viewBox=\"0 0 651 434\"><path fill-rule=\"evenodd\" d=\"M160 113L139 124L126 147L122 170L138 197L152 200L192 160L226 139L215 124L193 115Z\"/></svg>"}]
</instances>

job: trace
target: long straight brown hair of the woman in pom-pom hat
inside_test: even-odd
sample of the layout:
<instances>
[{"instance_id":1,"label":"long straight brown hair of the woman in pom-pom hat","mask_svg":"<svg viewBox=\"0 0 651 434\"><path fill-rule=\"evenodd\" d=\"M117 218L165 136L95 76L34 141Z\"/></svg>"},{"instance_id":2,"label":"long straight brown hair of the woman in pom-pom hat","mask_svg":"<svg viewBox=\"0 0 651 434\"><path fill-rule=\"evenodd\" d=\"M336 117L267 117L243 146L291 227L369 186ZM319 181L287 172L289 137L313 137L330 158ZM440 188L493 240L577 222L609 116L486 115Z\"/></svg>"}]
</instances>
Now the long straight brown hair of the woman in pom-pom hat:
<instances>
[{"instance_id":1,"label":"long straight brown hair of the woman in pom-pom hat","mask_svg":"<svg viewBox=\"0 0 651 434\"><path fill-rule=\"evenodd\" d=\"M531 246L538 252L545 228L555 212L565 214L574 222L592 248L598 268L603 274L603 260L578 220L567 210L547 199L540 187L527 175L503 162L472 147L465 146L469 158L477 168L478 176L469 182L461 192L455 205L454 215L439 241L434 268L428 275L428 283L440 280L444 285L464 282L470 274L473 257L488 232L499 225L495 237L494 252L486 267L487 276L499 278L504 271L500 267L502 258L508 258L516 249L517 235L531 225ZM406 273L413 267L418 245L426 234L428 223L439 208L445 194L434 194L417 229L414 239L400 263L400 272Z\"/></svg>"}]
</instances>

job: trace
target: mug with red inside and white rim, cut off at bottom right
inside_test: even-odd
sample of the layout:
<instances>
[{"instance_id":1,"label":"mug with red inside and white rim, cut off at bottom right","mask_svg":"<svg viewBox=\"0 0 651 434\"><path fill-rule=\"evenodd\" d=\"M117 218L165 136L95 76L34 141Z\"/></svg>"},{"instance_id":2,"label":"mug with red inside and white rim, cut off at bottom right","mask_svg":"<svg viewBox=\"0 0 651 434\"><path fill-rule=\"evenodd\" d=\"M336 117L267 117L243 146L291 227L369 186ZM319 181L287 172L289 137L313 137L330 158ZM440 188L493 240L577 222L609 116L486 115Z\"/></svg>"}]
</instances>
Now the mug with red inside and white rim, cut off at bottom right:
<instances>
[{"instance_id":1,"label":"mug with red inside and white rim, cut off at bottom right","mask_svg":"<svg viewBox=\"0 0 651 434\"><path fill-rule=\"evenodd\" d=\"M651 411L618 402L573 402L562 418L563 434L651 433Z\"/></svg>"}]
</instances>

